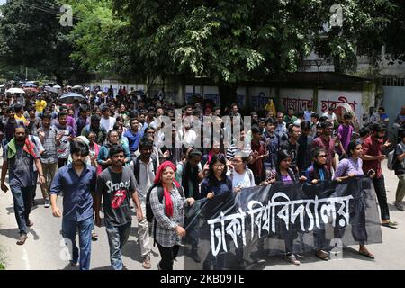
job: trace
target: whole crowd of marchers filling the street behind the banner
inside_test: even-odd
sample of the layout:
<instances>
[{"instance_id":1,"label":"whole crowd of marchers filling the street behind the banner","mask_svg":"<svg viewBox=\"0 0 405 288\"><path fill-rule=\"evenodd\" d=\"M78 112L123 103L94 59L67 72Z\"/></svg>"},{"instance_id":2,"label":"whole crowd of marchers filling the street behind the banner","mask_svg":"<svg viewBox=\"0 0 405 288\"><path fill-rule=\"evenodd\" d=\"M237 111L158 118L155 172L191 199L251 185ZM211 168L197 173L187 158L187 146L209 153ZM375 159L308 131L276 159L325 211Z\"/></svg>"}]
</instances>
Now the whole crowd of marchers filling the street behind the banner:
<instances>
[{"instance_id":1,"label":"whole crowd of marchers filling the street behind the banner","mask_svg":"<svg viewBox=\"0 0 405 288\"><path fill-rule=\"evenodd\" d=\"M226 111L202 102L180 107L182 125L173 124L170 135L161 119L167 116L175 123L175 108L179 107L164 93L145 97L131 90L120 88L114 94L110 87L103 93L97 85L85 93L86 103L76 100L71 104L58 103L47 93L23 99L0 95L1 189L9 190L5 184L8 172L20 230L18 245L25 243L27 227L33 225L30 213L32 205L38 205L37 184L44 207L51 207L53 216L62 217L62 235L73 243L71 265L80 269L90 268L92 240L98 238L94 224L101 225L101 211L114 269L123 268L121 250L136 213L142 266L151 268L153 241L161 257L158 268L171 270L182 239L195 230L184 218L187 207L203 198L210 200L275 181L316 184L370 175L381 223L397 229L388 209L382 161L388 150L395 148L394 167L399 178L395 205L403 211L405 107L396 119L397 145L386 137L388 117L383 107L378 114L370 109L363 127L358 127L351 112L338 119L330 107L320 116L311 104L297 114L293 109L285 115L271 110L251 112L251 129L243 130L242 125L240 139L234 139L234 131L230 131L229 143L224 134L231 125L221 116L241 116L237 104ZM212 133L199 139L196 130L203 130L203 117L213 120ZM167 138L179 140L182 147L167 147ZM58 208L58 196L63 196L63 212ZM148 203L152 221L147 219ZM191 257L200 263L196 238L192 237ZM317 238L321 243L324 236ZM322 260L329 258L325 249L325 245L318 245L315 251ZM374 257L363 244L359 253ZM288 243L285 259L300 265ZM207 257L203 266L211 269L212 263Z\"/></svg>"}]
</instances>

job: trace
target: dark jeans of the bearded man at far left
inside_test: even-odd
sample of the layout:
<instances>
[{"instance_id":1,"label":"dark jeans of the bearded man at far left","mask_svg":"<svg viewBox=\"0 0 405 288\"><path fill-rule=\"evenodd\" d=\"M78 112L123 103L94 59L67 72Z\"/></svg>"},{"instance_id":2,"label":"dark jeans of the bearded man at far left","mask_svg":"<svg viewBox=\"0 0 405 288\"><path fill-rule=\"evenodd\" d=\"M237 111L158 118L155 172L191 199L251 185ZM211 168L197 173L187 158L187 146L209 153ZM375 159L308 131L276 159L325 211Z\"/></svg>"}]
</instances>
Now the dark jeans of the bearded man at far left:
<instances>
[{"instance_id":1,"label":"dark jeans of the bearded man at far left","mask_svg":"<svg viewBox=\"0 0 405 288\"><path fill-rule=\"evenodd\" d=\"M32 197L36 186L20 187L11 185L14 200L14 214L20 234L27 234L27 220L32 209Z\"/></svg>"}]
</instances>

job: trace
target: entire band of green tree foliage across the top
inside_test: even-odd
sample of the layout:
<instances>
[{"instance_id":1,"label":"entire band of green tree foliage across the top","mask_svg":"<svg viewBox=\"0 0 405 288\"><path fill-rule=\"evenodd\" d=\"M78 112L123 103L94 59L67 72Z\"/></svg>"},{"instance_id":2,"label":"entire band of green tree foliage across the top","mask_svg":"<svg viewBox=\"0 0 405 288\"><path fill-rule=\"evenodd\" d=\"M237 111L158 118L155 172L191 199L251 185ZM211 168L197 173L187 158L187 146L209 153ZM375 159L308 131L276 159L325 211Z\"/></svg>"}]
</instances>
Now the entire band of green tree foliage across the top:
<instances>
[{"instance_id":1,"label":"entire band of green tree foliage across the top","mask_svg":"<svg viewBox=\"0 0 405 288\"><path fill-rule=\"evenodd\" d=\"M392 58L405 58L401 0L338 1L341 26L330 25L334 0L42 1L52 14L24 10L24 1L4 4L0 55L53 74L74 62L87 71L234 85L294 72L311 52L332 59L337 71L356 67L360 50L378 59L383 44ZM72 6L73 27L58 23L61 4Z\"/></svg>"}]
</instances>

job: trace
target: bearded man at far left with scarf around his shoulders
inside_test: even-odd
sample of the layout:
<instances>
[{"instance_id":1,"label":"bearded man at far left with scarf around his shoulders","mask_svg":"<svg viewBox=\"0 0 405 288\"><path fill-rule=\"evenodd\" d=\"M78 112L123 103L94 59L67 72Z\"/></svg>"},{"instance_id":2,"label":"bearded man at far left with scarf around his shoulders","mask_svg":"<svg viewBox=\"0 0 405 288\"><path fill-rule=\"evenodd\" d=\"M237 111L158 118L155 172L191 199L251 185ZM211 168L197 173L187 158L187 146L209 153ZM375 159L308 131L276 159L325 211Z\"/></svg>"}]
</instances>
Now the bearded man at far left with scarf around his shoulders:
<instances>
[{"instance_id":1,"label":"bearded man at far left with scarf around his shoulders","mask_svg":"<svg viewBox=\"0 0 405 288\"><path fill-rule=\"evenodd\" d=\"M37 173L40 175L40 184L45 183L45 177L40 165L40 153L28 137L26 127L17 125L14 129L14 138L5 146L3 155L1 189L6 193L4 184L5 175L9 171L9 184L14 200L14 214L17 220L20 238L17 245L23 245L27 236L27 226L31 227L29 216L32 208L32 195L35 193Z\"/></svg>"}]
</instances>

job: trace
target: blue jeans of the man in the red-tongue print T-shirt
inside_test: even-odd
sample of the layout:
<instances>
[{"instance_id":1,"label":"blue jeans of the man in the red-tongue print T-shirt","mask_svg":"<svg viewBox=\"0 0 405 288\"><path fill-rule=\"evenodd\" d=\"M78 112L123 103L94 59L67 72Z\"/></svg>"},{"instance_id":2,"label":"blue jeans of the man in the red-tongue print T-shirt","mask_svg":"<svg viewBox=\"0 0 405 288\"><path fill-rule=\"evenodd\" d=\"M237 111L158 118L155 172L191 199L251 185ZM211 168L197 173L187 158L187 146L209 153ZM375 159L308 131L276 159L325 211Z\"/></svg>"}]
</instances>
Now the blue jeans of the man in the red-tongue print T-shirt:
<instances>
[{"instance_id":1,"label":"blue jeans of the man in the red-tongue print T-shirt","mask_svg":"<svg viewBox=\"0 0 405 288\"><path fill-rule=\"evenodd\" d=\"M106 226L108 244L110 245L110 261L114 270L122 270L122 247L130 238L131 222L122 226Z\"/></svg>"}]
</instances>

